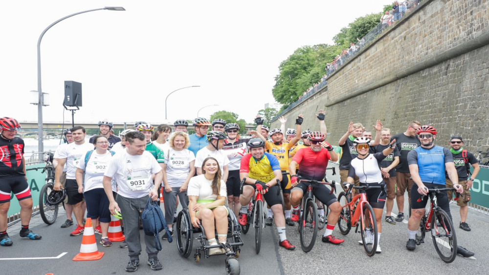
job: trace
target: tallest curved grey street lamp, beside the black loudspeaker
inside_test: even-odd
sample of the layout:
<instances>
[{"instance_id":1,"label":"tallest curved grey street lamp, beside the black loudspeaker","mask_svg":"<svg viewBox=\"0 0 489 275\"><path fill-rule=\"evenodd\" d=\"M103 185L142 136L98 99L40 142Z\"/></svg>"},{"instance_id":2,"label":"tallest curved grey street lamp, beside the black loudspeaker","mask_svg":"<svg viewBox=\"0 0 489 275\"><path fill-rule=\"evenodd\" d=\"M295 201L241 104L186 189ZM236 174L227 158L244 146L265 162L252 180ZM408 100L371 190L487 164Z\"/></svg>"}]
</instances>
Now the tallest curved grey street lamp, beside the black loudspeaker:
<instances>
[{"instance_id":1,"label":"tallest curved grey street lamp, beside the black loudspeaker","mask_svg":"<svg viewBox=\"0 0 489 275\"><path fill-rule=\"evenodd\" d=\"M38 145L38 150L40 152L44 151L44 140L43 140L43 105L44 105L44 100L43 100L43 90L41 88L41 40L43 39L44 34L48 29L50 29L52 26L56 25L60 21L63 21L67 18L70 18L72 16L86 13L86 12L91 12L91 11L98 11L98 10L113 10L113 11L125 11L123 7L104 7L100 9L93 9L93 10L86 10L86 11L81 11L74 13L72 15L68 15L66 17L63 17L60 20L55 21L54 23L50 24L42 33L41 36L39 36L39 40L37 42L37 92L39 93L39 102L37 104L37 130L39 132L39 145Z\"/></svg>"}]
</instances>

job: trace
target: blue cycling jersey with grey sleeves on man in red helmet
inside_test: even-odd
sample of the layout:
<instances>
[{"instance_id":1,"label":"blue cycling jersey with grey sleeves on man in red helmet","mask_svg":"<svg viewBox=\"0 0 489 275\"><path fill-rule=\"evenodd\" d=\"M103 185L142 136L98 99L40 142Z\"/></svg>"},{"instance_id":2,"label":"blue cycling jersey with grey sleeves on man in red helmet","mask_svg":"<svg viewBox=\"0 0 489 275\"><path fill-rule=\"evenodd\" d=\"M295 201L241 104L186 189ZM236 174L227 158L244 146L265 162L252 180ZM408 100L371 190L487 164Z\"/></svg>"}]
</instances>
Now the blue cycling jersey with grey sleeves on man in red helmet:
<instances>
[{"instance_id":1,"label":"blue cycling jersey with grey sleeves on man in red helmet","mask_svg":"<svg viewBox=\"0 0 489 275\"><path fill-rule=\"evenodd\" d=\"M445 163L453 162L453 157L449 149L441 146L418 147L409 152L407 161L409 165L418 165L423 183L446 185Z\"/></svg>"}]
</instances>

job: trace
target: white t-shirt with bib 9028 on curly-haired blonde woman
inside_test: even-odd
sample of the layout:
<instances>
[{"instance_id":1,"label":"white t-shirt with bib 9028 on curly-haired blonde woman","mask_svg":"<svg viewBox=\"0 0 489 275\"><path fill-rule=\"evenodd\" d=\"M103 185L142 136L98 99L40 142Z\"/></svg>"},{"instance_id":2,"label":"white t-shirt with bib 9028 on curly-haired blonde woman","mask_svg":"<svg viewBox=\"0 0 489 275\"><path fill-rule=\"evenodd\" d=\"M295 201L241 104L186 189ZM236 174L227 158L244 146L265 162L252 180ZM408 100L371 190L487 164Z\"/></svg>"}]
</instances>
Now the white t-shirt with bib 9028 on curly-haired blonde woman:
<instances>
[{"instance_id":1,"label":"white t-shirt with bib 9028 on curly-haired blonde woman","mask_svg":"<svg viewBox=\"0 0 489 275\"><path fill-rule=\"evenodd\" d=\"M182 186L190 172L190 163L194 160L194 152L188 149L177 151L170 148L170 153L165 153L166 178L171 187Z\"/></svg>"}]
</instances>

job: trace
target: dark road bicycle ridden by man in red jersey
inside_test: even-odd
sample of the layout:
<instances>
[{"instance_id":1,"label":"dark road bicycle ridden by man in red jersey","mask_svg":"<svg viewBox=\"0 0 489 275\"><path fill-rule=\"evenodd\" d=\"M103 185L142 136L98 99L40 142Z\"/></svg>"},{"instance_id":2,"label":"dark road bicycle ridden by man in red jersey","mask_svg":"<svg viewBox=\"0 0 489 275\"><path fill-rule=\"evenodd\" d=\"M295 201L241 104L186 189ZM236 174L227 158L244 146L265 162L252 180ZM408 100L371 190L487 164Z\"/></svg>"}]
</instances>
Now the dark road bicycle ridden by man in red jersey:
<instances>
[{"instance_id":1,"label":"dark road bicycle ridden by man in red jersey","mask_svg":"<svg viewBox=\"0 0 489 275\"><path fill-rule=\"evenodd\" d=\"M300 215L298 224L299 236L301 239L301 247L304 252L310 252L316 241L317 231L319 229L319 215L317 212L317 206L314 201L314 185L326 184L331 186L330 195L333 191L336 192L336 183L317 180L303 180L299 177L299 183L305 183L307 185L307 194L301 199L302 214ZM324 224L323 224L324 227Z\"/></svg>"}]
</instances>

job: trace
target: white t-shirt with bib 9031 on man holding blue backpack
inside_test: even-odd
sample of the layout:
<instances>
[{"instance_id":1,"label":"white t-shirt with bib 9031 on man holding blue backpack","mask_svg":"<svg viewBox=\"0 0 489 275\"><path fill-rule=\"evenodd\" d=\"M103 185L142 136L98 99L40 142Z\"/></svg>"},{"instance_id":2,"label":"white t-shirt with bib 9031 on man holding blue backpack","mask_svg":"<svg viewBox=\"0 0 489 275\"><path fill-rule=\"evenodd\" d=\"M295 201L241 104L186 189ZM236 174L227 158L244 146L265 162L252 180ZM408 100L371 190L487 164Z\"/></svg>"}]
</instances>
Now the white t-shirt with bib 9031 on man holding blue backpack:
<instances>
[{"instance_id":1,"label":"white t-shirt with bib 9031 on man holding blue backpack","mask_svg":"<svg viewBox=\"0 0 489 275\"><path fill-rule=\"evenodd\" d=\"M118 195L126 198L142 198L153 188L152 175L161 171L161 166L148 151L142 155L130 155L126 152L112 156L104 176L115 177Z\"/></svg>"}]
</instances>

